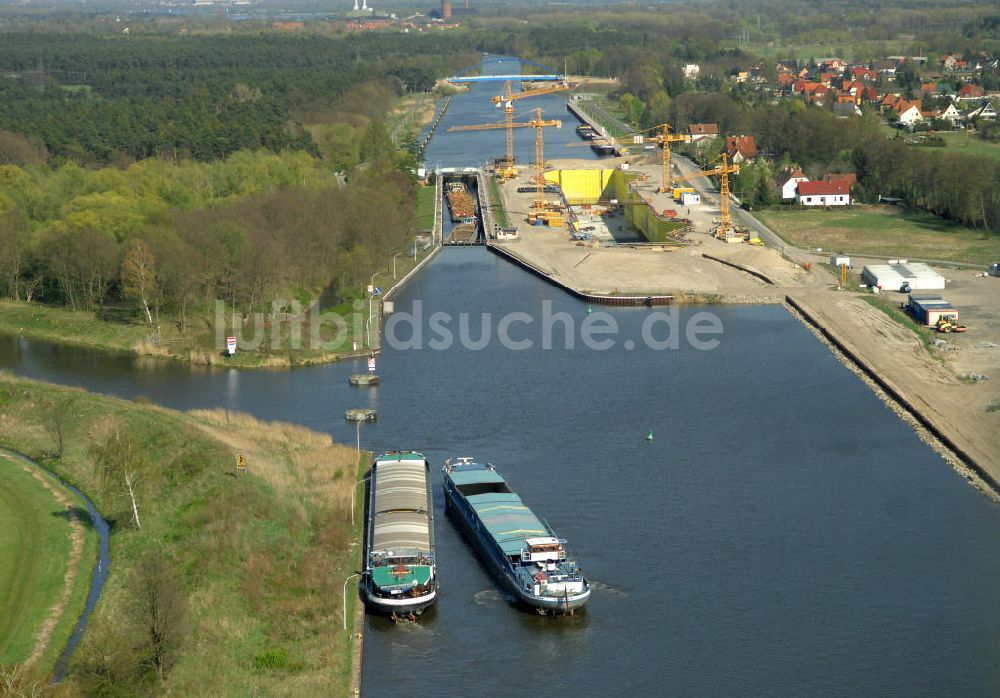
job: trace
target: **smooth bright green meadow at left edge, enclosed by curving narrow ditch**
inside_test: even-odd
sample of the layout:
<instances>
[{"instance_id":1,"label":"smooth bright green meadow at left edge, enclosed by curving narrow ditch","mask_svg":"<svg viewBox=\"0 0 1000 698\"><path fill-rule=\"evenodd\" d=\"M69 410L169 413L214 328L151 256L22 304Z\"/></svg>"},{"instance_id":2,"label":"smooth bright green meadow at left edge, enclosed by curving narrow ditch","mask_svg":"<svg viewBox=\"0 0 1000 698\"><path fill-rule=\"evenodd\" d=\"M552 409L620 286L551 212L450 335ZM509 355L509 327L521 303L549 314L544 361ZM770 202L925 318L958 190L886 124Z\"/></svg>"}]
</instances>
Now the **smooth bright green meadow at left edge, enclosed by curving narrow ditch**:
<instances>
[{"instance_id":1,"label":"smooth bright green meadow at left edge, enclosed by curving narrow ditch","mask_svg":"<svg viewBox=\"0 0 1000 698\"><path fill-rule=\"evenodd\" d=\"M69 491L38 473L66 500ZM28 659L46 619L57 620L37 668L51 671L83 610L96 559L96 538L82 525L81 557L72 571L68 599L63 598L71 553L71 526L65 506L22 464L0 453L0 666ZM53 614L53 609L58 610Z\"/></svg>"}]
</instances>

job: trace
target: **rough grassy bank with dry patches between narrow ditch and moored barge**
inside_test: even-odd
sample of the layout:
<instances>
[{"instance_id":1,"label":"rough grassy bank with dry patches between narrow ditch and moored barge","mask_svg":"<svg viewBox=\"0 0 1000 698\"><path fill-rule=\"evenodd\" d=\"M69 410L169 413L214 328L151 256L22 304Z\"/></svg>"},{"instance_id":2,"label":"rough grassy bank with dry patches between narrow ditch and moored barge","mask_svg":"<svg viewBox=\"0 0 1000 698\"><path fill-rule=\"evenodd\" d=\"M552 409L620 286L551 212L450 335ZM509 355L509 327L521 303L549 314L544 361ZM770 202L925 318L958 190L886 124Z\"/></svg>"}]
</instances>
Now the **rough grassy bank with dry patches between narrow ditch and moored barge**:
<instances>
[{"instance_id":1,"label":"rough grassy bank with dry patches between narrow ditch and moored barge","mask_svg":"<svg viewBox=\"0 0 1000 698\"><path fill-rule=\"evenodd\" d=\"M341 629L341 585L359 564L361 517L354 527L350 519L355 449L294 425L223 410L180 413L4 374L0 443L41 460L52 447L45 415L57 404L67 406L65 450L47 464L87 492L112 525L111 576L69 688L348 695L351 630ZM98 486L88 455L112 429L137 444L141 529L122 488ZM233 472L237 451L249 466L241 477ZM168 564L189 609L162 682L134 644L142 637L134 575L151 554Z\"/></svg>"}]
</instances>

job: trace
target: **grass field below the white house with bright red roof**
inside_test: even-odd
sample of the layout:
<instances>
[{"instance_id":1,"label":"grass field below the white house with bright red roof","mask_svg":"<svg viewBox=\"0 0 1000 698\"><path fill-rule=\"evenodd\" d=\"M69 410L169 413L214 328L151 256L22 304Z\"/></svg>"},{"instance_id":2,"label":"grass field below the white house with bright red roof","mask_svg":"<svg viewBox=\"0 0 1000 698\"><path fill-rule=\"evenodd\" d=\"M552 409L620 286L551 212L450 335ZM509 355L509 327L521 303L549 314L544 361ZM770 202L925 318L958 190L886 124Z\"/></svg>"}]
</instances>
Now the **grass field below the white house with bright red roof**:
<instances>
[{"instance_id":1,"label":"grass field below the white house with bright red roof","mask_svg":"<svg viewBox=\"0 0 1000 698\"><path fill-rule=\"evenodd\" d=\"M905 257L986 265L1000 259L1000 236L894 206L761 211L783 240L804 248L867 257Z\"/></svg>"}]
</instances>

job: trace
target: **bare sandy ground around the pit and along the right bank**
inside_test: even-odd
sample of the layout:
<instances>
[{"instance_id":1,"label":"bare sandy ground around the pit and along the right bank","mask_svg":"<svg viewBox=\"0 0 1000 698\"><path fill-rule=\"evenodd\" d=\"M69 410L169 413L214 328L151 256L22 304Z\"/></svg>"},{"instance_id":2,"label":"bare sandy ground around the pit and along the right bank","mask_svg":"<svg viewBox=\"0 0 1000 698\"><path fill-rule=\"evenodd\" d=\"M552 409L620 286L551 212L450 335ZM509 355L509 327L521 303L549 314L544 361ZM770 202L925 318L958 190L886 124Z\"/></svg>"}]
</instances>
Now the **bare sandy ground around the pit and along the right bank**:
<instances>
[{"instance_id":1,"label":"bare sandy ground around the pit and along the right bank","mask_svg":"<svg viewBox=\"0 0 1000 698\"><path fill-rule=\"evenodd\" d=\"M614 167L624 161L607 159L599 166ZM640 193L651 197L657 210L673 208L691 220L691 245L601 248L571 240L564 229L529 226L526 218L534 194L517 193L518 186L530 183L531 173L524 171L517 180L501 187L508 221L516 225L521 237L503 247L555 280L588 293L672 293L735 303L780 303L791 296L921 416L1000 482L1000 411L986 409L990 402L1000 402L1000 278L939 269L948 279L942 295L959 308L969 332L941 335L946 344L928 352L909 329L864 302L858 294L837 290L833 273L821 264L825 256L788 247L751 215L733 207L740 224L759 232L768 247L727 245L714 239L709 231L719 216L719 195L707 179L689 182L701 193L703 203L681 210L670 196L655 192L662 176L658 153L652 157L632 156L628 162L633 171L648 175L640 185ZM592 160L565 159L548 164L551 168L597 165ZM675 175L693 170L691 163L675 158ZM554 200L555 196L550 194L548 198ZM630 237L629 231L620 228L621 216L604 221L612 234ZM631 237L634 239L634 234ZM758 272L772 283L705 255ZM860 271L866 261L884 260L853 261ZM810 262L812 268L807 271L805 266ZM900 295L899 300L904 301L905 296ZM989 378L973 381L968 378L970 374Z\"/></svg>"}]
</instances>

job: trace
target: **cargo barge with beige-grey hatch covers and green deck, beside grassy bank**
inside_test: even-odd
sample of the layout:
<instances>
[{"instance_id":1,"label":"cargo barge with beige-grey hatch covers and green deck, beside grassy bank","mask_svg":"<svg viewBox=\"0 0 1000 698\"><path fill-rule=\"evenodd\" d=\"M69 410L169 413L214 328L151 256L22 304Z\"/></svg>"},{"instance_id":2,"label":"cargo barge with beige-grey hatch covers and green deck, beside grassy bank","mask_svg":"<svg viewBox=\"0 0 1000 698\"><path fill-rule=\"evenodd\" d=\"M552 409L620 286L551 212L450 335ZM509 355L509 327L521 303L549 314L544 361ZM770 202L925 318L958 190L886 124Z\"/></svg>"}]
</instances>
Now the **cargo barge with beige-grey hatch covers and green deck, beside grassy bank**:
<instances>
[{"instance_id":1,"label":"cargo barge with beige-grey hatch covers and green deck, beside grassy bank","mask_svg":"<svg viewBox=\"0 0 1000 698\"><path fill-rule=\"evenodd\" d=\"M361 592L374 611L414 620L437 600L427 459L390 451L372 463Z\"/></svg>"}]
</instances>

